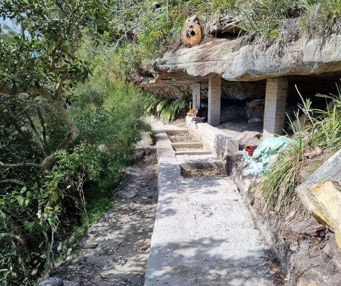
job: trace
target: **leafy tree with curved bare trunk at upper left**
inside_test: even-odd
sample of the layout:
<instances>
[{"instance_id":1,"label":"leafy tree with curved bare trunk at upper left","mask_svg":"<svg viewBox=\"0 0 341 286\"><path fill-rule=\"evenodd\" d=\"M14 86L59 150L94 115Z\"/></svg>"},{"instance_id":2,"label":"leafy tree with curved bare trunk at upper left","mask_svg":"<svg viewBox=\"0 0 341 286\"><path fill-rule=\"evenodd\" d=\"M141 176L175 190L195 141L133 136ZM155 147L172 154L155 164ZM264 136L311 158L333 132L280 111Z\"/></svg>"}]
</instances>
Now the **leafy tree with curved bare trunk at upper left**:
<instances>
[{"instance_id":1,"label":"leafy tree with curved bare trunk at upper left","mask_svg":"<svg viewBox=\"0 0 341 286\"><path fill-rule=\"evenodd\" d=\"M0 15L23 23L30 35L0 39L0 103L11 101L15 108L18 100L47 101L68 127L68 134L57 147L65 149L79 134L67 105L74 99L75 87L91 73L89 64L77 56L77 49L85 35L98 43L106 29L108 3L3 0ZM19 98L22 94L25 96ZM37 166L50 169L55 151Z\"/></svg>"}]
</instances>

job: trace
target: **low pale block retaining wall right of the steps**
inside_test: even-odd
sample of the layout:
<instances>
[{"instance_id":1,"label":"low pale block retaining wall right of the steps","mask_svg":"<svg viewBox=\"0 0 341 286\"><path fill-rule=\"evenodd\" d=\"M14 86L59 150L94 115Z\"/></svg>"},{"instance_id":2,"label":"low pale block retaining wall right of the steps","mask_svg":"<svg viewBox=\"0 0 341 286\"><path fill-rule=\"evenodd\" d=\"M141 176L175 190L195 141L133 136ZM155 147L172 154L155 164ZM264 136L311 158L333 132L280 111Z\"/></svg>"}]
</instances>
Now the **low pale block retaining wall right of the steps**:
<instances>
[{"instance_id":1,"label":"low pale block retaining wall right of the steps","mask_svg":"<svg viewBox=\"0 0 341 286\"><path fill-rule=\"evenodd\" d=\"M202 142L206 149L211 150L221 160L234 155L239 149L238 139L228 136L208 123L194 124L192 123L192 117L186 116L186 126L189 133L197 141Z\"/></svg>"}]
</instances>

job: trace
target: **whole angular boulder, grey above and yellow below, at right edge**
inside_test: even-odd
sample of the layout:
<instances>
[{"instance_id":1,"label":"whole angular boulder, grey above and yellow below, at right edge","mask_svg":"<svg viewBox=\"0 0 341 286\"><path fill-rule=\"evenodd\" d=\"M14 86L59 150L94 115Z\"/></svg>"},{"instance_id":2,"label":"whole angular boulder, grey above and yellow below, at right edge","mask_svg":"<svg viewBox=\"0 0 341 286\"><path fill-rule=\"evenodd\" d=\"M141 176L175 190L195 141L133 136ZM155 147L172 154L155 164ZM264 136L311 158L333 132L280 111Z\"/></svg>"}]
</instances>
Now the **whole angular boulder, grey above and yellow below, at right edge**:
<instances>
[{"instance_id":1,"label":"whole angular boulder, grey above and yellow below, at right edge","mask_svg":"<svg viewBox=\"0 0 341 286\"><path fill-rule=\"evenodd\" d=\"M306 209L335 233L341 251L341 150L296 188Z\"/></svg>"}]
</instances>

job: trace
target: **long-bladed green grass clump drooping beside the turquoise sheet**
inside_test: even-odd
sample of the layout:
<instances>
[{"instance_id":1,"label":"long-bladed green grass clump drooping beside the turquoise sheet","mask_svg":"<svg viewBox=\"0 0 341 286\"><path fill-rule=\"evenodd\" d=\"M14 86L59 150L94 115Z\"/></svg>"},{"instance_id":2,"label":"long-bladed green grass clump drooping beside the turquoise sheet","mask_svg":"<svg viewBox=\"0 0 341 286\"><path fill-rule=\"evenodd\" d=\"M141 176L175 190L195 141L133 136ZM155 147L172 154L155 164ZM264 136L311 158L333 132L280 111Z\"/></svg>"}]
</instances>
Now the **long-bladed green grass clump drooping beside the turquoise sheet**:
<instances>
[{"instance_id":1,"label":"long-bladed green grass clump drooping beside the turquoise sheet","mask_svg":"<svg viewBox=\"0 0 341 286\"><path fill-rule=\"evenodd\" d=\"M332 101L333 107L328 105L325 110L311 108L309 100L299 105L300 111L308 121L302 129L300 124L293 124L290 120L294 135L288 139L288 146L282 150L276 164L264 174L257 186L257 191L264 198L265 209L273 209L277 214L285 214L294 206L298 206L295 199L295 187L299 182L299 174L306 162L305 152L314 147L341 147L341 93L337 96L318 95ZM295 119L298 121L298 112ZM313 115L317 116L313 116ZM290 118L289 118L290 119Z\"/></svg>"}]
</instances>

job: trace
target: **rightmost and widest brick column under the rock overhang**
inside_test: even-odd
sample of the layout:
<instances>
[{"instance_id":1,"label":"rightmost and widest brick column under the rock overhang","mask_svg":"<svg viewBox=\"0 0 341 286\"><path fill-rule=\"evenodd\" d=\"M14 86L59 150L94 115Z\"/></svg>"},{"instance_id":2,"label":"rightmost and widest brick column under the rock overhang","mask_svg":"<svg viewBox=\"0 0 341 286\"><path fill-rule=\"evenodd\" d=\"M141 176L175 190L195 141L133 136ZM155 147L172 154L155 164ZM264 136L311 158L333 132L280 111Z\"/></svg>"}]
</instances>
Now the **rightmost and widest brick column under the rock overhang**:
<instances>
[{"instance_id":1,"label":"rightmost and widest brick column under the rock overhang","mask_svg":"<svg viewBox=\"0 0 341 286\"><path fill-rule=\"evenodd\" d=\"M263 137L282 135L286 114L288 78L266 80Z\"/></svg>"}]
</instances>

